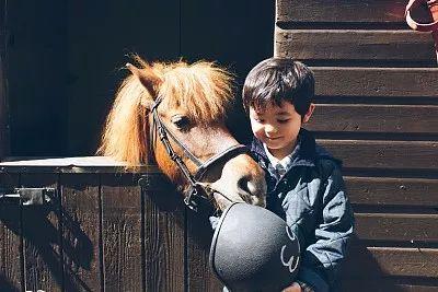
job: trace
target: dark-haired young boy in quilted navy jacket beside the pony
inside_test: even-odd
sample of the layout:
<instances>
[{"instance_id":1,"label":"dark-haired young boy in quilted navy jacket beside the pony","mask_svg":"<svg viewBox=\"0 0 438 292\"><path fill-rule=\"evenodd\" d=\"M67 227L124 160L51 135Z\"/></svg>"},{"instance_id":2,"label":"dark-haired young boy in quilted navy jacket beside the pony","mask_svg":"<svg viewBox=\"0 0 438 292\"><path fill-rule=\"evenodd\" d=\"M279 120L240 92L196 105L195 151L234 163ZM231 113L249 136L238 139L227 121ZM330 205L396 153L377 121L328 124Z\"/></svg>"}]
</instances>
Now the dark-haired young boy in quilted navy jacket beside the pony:
<instances>
[{"instance_id":1,"label":"dark-haired young boy in quilted navy jacket beside the pony","mask_svg":"<svg viewBox=\"0 0 438 292\"><path fill-rule=\"evenodd\" d=\"M291 59L260 62L243 86L254 133L251 151L266 172L267 209L300 240L300 271L285 291L336 291L354 229L341 161L301 128L312 116L313 95L312 71Z\"/></svg>"}]
</instances>

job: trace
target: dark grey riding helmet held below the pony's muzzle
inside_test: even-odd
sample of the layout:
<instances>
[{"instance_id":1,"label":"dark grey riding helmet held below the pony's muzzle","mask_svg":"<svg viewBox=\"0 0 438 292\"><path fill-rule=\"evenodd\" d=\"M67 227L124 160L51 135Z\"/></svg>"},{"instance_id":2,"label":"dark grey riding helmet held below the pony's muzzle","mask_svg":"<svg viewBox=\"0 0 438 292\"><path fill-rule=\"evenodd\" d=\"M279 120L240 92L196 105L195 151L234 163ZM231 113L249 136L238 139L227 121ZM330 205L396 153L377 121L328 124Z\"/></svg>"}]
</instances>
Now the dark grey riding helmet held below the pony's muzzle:
<instances>
[{"instance_id":1,"label":"dark grey riding helmet held below the pony's muzzle","mask_svg":"<svg viewBox=\"0 0 438 292\"><path fill-rule=\"evenodd\" d=\"M281 291L300 261L297 236L275 213L243 202L228 207L215 230L210 266L232 292Z\"/></svg>"}]
</instances>

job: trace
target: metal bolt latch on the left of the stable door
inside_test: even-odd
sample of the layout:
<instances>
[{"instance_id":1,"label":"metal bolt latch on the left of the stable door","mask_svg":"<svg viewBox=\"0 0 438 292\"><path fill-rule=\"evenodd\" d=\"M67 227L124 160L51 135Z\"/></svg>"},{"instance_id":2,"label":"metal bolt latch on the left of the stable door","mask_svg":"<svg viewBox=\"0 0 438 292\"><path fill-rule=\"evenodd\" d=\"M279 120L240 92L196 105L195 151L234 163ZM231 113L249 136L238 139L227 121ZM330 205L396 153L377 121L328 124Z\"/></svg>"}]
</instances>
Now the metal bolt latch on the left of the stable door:
<instances>
[{"instance_id":1,"label":"metal bolt latch on the left of the stable door","mask_svg":"<svg viewBox=\"0 0 438 292\"><path fill-rule=\"evenodd\" d=\"M15 188L13 190L0 189L0 203L16 200L22 206L42 206L55 196L55 188Z\"/></svg>"}]
</instances>

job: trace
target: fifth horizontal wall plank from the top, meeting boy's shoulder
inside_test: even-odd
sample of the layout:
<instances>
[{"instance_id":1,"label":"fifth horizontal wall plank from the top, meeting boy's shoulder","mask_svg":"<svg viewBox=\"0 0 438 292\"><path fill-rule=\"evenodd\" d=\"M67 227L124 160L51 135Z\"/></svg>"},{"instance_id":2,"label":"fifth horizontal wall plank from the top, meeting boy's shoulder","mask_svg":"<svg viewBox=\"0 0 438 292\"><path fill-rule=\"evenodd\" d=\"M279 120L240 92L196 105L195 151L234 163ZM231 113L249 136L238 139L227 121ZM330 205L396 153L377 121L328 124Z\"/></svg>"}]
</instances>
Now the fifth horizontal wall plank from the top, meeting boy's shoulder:
<instances>
[{"instance_id":1,"label":"fifth horizontal wall plank from the top, meeting boy's shoulder","mask_svg":"<svg viewBox=\"0 0 438 292\"><path fill-rule=\"evenodd\" d=\"M438 170L438 141L318 140L344 167Z\"/></svg>"}]
</instances>

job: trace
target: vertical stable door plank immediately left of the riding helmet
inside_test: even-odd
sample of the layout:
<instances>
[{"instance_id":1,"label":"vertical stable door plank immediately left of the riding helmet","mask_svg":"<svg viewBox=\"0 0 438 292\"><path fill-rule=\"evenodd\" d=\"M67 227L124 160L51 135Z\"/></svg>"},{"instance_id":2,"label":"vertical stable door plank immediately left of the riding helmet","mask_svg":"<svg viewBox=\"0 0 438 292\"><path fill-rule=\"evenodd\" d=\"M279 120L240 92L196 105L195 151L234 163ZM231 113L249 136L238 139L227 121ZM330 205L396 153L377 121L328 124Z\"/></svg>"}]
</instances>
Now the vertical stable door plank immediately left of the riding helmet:
<instances>
[{"instance_id":1,"label":"vertical stable door plank immediately left of the riding helmet","mask_svg":"<svg viewBox=\"0 0 438 292\"><path fill-rule=\"evenodd\" d=\"M222 284L210 269L208 257L212 231L208 219L187 210L188 291L221 291Z\"/></svg>"}]
</instances>

